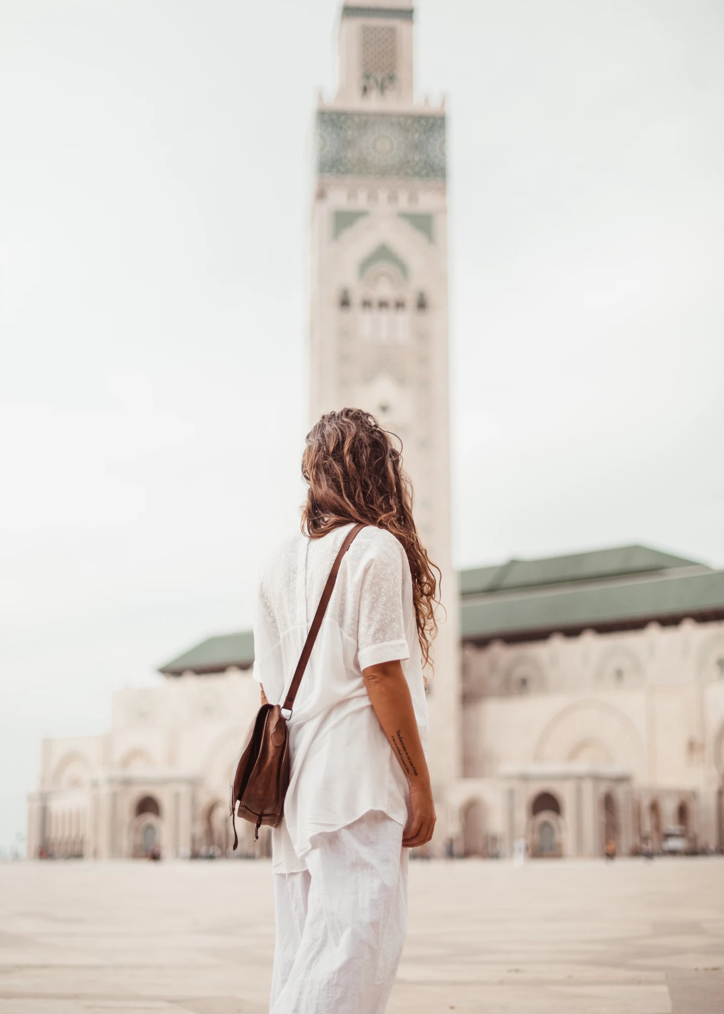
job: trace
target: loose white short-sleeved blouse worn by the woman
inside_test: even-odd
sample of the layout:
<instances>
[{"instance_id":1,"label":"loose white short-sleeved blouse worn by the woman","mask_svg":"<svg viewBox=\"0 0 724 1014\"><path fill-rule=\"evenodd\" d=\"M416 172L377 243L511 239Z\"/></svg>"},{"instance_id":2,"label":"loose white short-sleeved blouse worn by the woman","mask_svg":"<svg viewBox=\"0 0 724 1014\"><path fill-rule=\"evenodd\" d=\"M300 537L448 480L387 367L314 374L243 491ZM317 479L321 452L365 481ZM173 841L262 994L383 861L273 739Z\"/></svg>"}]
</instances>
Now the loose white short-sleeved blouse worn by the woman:
<instances>
[{"instance_id":1,"label":"loose white short-sleeved blouse worn by the woman","mask_svg":"<svg viewBox=\"0 0 724 1014\"><path fill-rule=\"evenodd\" d=\"M284 700L335 557L351 525L321 538L299 533L263 570L254 626L254 675L271 704ZM377 720L362 669L400 659L423 746L427 701L407 554L366 527L345 555L289 720L291 779L284 821L272 831L273 868L306 869L319 831L369 810L405 824L409 786Z\"/></svg>"}]
</instances>

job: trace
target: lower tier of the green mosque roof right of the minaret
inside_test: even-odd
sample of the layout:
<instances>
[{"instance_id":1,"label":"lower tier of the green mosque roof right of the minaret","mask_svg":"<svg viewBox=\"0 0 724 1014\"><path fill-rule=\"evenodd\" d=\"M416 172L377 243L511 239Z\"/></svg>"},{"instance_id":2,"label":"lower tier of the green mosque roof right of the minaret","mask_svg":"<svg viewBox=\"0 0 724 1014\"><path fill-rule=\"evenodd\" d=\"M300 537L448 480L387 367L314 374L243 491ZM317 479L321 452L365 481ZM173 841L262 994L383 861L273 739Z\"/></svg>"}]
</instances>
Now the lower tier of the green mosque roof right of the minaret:
<instances>
[{"instance_id":1,"label":"lower tier of the green mosque roof right of the minaret","mask_svg":"<svg viewBox=\"0 0 724 1014\"><path fill-rule=\"evenodd\" d=\"M534 640L556 631L573 634L724 619L724 571L602 581L580 587L527 589L463 597L463 640Z\"/></svg>"}]
</instances>

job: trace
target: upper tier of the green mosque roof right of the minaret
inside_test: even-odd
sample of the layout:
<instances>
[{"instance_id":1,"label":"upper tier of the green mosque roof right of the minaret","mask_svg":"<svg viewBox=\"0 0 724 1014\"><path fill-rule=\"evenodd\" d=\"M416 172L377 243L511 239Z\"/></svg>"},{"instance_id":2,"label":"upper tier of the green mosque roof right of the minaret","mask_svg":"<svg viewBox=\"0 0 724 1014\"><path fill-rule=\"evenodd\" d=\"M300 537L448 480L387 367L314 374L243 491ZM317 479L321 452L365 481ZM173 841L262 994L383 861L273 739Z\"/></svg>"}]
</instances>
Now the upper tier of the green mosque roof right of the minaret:
<instances>
[{"instance_id":1,"label":"upper tier of the green mosque roof right of the minaret","mask_svg":"<svg viewBox=\"0 0 724 1014\"><path fill-rule=\"evenodd\" d=\"M613 550L594 550L567 557L544 560L509 560L496 567L478 567L462 571L459 576L461 595L531 588L571 581L596 581L634 574L651 574L677 567L701 566L696 560L685 560L669 553L651 550L647 546L623 546Z\"/></svg>"}]
</instances>

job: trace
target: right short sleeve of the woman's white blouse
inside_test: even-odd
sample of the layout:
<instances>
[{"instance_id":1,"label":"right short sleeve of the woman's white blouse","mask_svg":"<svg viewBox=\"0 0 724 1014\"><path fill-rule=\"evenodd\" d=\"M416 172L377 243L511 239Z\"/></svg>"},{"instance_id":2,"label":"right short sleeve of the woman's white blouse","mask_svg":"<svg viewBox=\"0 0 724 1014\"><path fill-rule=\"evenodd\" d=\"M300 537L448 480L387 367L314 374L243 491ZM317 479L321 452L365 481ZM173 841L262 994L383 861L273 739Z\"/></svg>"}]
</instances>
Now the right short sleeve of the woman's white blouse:
<instances>
[{"instance_id":1,"label":"right short sleeve of the woman's white blouse","mask_svg":"<svg viewBox=\"0 0 724 1014\"><path fill-rule=\"evenodd\" d=\"M410 588L407 588L410 585ZM394 535L380 531L362 575L357 623L360 669L410 658L405 636L404 591L412 596L405 549Z\"/></svg>"}]
</instances>

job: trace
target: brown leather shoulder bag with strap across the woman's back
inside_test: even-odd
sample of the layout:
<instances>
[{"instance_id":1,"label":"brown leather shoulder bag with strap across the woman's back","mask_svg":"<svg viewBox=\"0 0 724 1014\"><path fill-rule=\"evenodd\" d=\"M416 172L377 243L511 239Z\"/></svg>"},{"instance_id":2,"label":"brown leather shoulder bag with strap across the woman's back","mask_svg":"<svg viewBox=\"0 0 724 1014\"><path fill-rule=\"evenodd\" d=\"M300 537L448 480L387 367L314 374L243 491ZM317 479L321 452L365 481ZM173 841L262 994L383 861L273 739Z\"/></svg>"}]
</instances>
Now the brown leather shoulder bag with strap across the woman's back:
<instances>
[{"instance_id":1,"label":"brown leather shoulder bag with strap across the woman's back","mask_svg":"<svg viewBox=\"0 0 724 1014\"><path fill-rule=\"evenodd\" d=\"M294 676L289 686L284 704L263 704L257 717L249 726L246 739L241 749L241 755L236 765L234 780L230 785L231 823L234 828L234 849L238 845L234 810L238 803L237 814L244 820L256 824L255 841L259 838L262 824L276 827L284 813L284 797L289 788L289 730L287 722L291 718L294 700L299 690L301 677L304 675L311 649L314 647L316 635L330 604L332 591L340 570L340 564L353 540L364 528L356 524L349 532L337 554L337 559L330 571L319 604L307 634L302 653L299 656Z\"/></svg>"}]
</instances>

